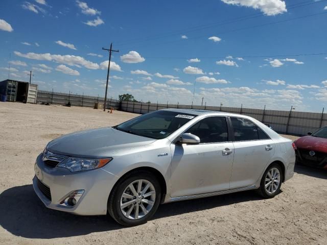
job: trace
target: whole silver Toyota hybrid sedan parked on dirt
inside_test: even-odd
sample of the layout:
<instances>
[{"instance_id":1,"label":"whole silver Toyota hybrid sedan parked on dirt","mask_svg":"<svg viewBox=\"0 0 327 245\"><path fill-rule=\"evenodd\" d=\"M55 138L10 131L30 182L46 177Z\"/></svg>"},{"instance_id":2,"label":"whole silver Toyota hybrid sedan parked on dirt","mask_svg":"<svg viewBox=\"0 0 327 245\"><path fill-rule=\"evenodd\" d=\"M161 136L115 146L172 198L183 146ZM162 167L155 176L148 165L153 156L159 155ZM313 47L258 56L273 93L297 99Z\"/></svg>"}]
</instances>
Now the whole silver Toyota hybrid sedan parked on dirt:
<instances>
[{"instance_id":1,"label":"whole silver Toyota hybrid sedan parked on dirt","mask_svg":"<svg viewBox=\"0 0 327 245\"><path fill-rule=\"evenodd\" d=\"M52 140L33 186L48 208L134 226L160 203L254 189L272 198L294 162L292 141L254 118L167 109Z\"/></svg>"}]
</instances>

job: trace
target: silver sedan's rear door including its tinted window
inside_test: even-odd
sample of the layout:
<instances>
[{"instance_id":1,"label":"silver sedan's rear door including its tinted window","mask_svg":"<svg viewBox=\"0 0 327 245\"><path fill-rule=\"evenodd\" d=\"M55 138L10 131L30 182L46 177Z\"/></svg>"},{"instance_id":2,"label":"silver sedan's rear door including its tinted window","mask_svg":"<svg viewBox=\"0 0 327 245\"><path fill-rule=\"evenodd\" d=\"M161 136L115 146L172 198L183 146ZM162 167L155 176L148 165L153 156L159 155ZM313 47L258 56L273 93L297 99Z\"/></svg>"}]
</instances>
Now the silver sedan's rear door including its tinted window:
<instances>
[{"instance_id":1,"label":"silver sedan's rear door including its tinted window","mask_svg":"<svg viewBox=\"0 0 327 245\"><path fill-rule=\"evenodd\" d=\"M275 151L275 143L252 121L230 117L233 130L234 161L230 188L253 185Z\"/></svg>"}]
</instances>

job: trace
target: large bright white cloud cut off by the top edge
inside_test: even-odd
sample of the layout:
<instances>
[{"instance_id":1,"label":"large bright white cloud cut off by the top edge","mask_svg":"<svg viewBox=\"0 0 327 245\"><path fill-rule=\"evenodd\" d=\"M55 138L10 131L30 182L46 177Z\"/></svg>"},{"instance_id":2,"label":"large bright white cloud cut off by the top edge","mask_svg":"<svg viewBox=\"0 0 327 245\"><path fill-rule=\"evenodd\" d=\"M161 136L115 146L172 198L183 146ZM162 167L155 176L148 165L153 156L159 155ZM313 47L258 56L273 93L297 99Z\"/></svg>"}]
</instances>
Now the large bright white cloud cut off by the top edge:
<instances>
[{"instance_id":1,"label":"large bright white cloud cut off by the top edge","mask_svg":"<svg viewBox=\"0 0 327 245\"><path fill-rule=\"evenodd\" d=\"M221 0L225 4L260 9L266 15L277 15L287 12L286 4L281 0Z\"/></svg>"}]
</instances>

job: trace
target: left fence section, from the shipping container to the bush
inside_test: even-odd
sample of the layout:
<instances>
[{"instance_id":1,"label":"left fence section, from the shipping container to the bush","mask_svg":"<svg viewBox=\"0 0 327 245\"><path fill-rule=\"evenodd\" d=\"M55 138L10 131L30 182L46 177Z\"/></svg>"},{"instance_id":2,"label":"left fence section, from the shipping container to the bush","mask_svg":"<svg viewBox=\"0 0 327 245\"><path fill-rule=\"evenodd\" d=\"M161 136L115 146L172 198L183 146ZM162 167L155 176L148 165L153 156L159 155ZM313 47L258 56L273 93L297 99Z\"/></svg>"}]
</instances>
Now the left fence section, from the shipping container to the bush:
<instances>
[{"instance_id":1,"label":"left fence section, from the shipping container to the bush","mask_svg":"<svg viewBox=\"0 0 327 245\"><path fill-rule=\"evenodd\" d=\"M37 93L37 103L49 103L49 104L58 104L66 105L68 101L71 102L72 106L86 106L94 107L95 103L104 103L103 97L72 94L72 93L59 93L52 91L43 91L39 90ZM118 110L120 107L120 101L107 99L106 108L109 109L113 107L115 110Z\"/></svg>"}]
</instances>

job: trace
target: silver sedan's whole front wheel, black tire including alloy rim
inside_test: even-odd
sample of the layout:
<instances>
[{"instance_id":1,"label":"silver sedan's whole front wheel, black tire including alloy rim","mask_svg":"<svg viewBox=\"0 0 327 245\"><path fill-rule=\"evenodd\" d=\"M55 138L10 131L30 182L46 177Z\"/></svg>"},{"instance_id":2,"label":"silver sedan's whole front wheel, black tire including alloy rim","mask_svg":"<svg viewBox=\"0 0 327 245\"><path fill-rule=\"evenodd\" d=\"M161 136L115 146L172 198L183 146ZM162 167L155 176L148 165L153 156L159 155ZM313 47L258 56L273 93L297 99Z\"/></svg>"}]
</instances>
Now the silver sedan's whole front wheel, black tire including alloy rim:
<instances>
[{"instance_id":1,"label":"silver sedan's whole front wheel, black tire including alloy rim","mask_svg":"<svg viewBox=\"0 0 327 245\"><path fill-rule=\"evenodd\" d=\"M132 171L113 187L108 200L108 212L123 226L137 226L147 223L157 210L160 199L161 187L155 176L148 171Z\"/></svg>"}]
</instances>

